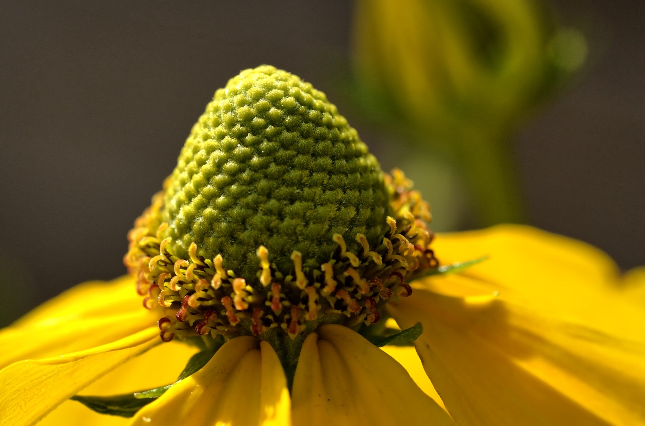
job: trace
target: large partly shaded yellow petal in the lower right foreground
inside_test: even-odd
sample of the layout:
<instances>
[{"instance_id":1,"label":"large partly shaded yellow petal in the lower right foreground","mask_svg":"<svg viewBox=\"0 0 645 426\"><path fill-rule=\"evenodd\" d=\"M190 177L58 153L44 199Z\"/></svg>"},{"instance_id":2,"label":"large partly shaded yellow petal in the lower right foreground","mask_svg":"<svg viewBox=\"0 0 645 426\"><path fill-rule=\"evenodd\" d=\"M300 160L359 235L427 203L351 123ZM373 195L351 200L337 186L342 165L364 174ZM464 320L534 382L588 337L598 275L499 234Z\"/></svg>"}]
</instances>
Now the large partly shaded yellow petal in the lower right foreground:
<instances>
[{"instance_id":1,"label":"large partly shaded yellow petal in the lower right foreground","mask_svg":"<svg viewBox=\"0 0 645 426\"><path fill-rule=\"evenodd\" d=\"M389 306L401 328L422 322L417 352L458 424L642 421L645 346L532 308L421 289Z\"/></svg>"}]
</instances>

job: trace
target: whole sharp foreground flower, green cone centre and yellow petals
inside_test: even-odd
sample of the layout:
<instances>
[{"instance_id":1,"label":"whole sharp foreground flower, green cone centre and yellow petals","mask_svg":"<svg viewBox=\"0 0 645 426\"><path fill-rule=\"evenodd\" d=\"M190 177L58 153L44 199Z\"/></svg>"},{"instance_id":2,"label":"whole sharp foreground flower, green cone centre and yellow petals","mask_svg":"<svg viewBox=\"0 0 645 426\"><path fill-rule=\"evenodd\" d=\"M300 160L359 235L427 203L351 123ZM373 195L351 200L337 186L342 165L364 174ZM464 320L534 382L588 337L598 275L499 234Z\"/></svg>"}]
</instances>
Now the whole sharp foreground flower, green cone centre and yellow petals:
<instances>
[{"instance_id":1,"label":"whole sharp foreground flower, green cone centre and yellow petals","mask_svg":"<svg viewBox=\"0 0 645 426\"><path fill-rule=\"evenodd\" d=\"M258 104L266 114L257 114ZM237 118L257 132L240 129ZM289 122L297 138L266 131ZM257 134L270 137L248 137ZM276 134L283 145L263 145ZM301 161L284 152L288 144L319 156L304 169L272 171L280 161ZM253 146L274 161L248 153ZM330 153L346 168L324 160ZM208 178L206 158L219 162ZM310 167L311 174L289 176ZM292 207L307 199L319 169L344 191ZM231 171L236 179L227 181ZM254 180L249 171L264 175ZM262 190L246 192L245 183L273 195L292 187L282 205L266 197L248 207ZM352 205L360 207L354 215ZM257 217L270 212L279 220L261 226ZM218 218L226 223L208 223ZM239 218L254 226L239 228ZM294 218L297 234L284 233ZM10 348L0 353L0 418L10 426L43 418L70 425L645 420L645 312L625 297L641 292L641 270L622 279L599 250L530 227L433 238L422 219L429 212L409 181L400 172L382 177L324 95L272 67L243 71L216 93L164 192L130 232L132 274L81 284L0 332ZM320 241L311 244L312 233ZM70 397L134 416L99 416Z\"/></svg>"}]
</instances>

